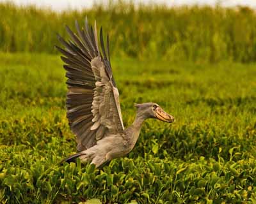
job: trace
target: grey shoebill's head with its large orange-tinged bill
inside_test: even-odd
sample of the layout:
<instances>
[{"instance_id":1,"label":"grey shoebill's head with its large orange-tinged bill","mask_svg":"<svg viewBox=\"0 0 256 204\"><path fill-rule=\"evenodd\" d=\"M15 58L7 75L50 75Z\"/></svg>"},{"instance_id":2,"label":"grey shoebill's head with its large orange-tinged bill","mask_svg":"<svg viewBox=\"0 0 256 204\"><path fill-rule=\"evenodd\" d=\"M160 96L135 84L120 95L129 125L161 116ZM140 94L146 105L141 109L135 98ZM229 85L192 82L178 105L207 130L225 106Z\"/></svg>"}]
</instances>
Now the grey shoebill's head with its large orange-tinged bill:
<instances>
[{"instance_id":1,"label":"grey shoebill's head with its large orange-tinged bill","mask_svg":"<svg viewBox=\"0 0 256 204\"><path fill-rule=\"evenodd\" d=\"M156 103L135 103L137 114L145 118L159 119L164 122L174 122L174 117L166 112Z\"/></svg>"}]
</instances>

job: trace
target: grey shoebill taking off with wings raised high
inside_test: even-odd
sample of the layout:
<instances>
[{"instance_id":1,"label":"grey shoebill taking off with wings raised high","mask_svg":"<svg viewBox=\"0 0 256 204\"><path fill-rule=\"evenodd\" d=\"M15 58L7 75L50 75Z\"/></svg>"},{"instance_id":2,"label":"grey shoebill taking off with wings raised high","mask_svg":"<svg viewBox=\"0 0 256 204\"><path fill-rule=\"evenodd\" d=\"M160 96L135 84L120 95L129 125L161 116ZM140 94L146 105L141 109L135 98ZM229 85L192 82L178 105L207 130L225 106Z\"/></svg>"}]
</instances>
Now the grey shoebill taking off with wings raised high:
<instances>
[{"instance_id":1,"label":"grey shoebill taking off with wings raised high","mask_svg":"<svg viewBox=\"0 0 256 204\"><path fill-rule=\"evenodd\" d=\"M171 123L174 117L157 103L134 104L135 120L124 128L110 63L109 35L105 47L102 26L98 39L96 21L93 28L86 17L83 27L77 20L75 27L76 33L66 25L69 40L58 34L62 46L56 45L66 70L67 119L76 135L78 152L64 161L70 163L79 158L81 163L91 163L97 168L131 152L146 119Z\"/></svg>"}]
</instances>

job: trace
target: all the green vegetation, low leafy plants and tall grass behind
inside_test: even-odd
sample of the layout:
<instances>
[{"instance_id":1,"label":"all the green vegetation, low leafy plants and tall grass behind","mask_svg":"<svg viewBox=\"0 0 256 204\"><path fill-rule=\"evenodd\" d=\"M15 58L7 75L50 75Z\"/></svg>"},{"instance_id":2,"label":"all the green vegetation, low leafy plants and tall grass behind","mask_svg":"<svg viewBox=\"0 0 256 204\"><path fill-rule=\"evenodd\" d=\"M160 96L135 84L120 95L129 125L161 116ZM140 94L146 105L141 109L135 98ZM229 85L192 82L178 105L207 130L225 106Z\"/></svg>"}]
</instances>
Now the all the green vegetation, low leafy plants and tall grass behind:
<instances>
[{"instance_id":1,"label":"all the green vegetation, low leafy plants and tall grass behind","mask_svg":"<svg viewBox=\"0 0 256 204\"><path fill-rule=\"evenodd\" d=\"M119 2L0 13L1 203L256 203L255 11ZM60 164L76 142L56 33L86 15L110 34L124 125L148 101L176 119L145 121L134 150L99 169Z\"/></svg>"}]
</instances>

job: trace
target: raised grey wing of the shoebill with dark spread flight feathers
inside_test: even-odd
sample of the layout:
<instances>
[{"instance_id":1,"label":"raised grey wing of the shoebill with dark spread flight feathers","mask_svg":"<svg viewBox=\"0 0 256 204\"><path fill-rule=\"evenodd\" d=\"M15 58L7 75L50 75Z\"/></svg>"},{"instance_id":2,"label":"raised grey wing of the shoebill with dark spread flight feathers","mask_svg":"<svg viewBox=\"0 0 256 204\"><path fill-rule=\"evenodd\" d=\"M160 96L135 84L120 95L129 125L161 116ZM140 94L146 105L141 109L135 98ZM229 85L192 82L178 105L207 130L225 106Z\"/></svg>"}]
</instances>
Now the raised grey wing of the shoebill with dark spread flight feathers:
<instances>
[{"instance_id":1,"label":"raised grey wing of the shoebill with dark spread flight feathers","mask_svg":"<svg viewBox=\"0 0 256 204\"><path fill-rule=\"evenodd\" d=\"M77 34L66 26L70 40L67 42L58 36L65 48L56 46L65 55L61 59L68 78L67 118L77 136L79 151L92 147L108 133L124 133L118 89L109 59L109 39L107 37L107 57L102 27L99 46L96 22L94 30L87 19L84 25L80 29L76 22Z\"/></svg>"}]
</instances>

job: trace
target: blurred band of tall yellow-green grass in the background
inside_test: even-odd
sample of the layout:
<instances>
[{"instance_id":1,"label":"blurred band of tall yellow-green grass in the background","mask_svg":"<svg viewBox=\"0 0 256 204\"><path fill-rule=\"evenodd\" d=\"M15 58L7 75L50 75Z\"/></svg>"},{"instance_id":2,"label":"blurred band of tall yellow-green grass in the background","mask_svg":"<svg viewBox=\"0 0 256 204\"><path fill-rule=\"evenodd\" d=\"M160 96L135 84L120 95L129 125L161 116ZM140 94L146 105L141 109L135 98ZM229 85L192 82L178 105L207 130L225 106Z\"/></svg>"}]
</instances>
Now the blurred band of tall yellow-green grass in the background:
<instances>
[{"instance_id":1,"label":"blurred band of tall yellow-green grass in the background","mask_svg":"<svg viewBox=\"0 0 256 204\"><path fill-rule=\"evenodd\" d=\"M0 3L0 50L56 53L56 33L84 17L110 34L111 54L172 61L256 61L256 13L246 7L119 3L54 12Z\"/></svg>"}]
</instances>

